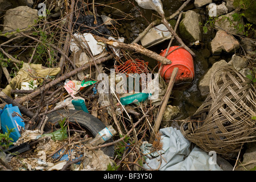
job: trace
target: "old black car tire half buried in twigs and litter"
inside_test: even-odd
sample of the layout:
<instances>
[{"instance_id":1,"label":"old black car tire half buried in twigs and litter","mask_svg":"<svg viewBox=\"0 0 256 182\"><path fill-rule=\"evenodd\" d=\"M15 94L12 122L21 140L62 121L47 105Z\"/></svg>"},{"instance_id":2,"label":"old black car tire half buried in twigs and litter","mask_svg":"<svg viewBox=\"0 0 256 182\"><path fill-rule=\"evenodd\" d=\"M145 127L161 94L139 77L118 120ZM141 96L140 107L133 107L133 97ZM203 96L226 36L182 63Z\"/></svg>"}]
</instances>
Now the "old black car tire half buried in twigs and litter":
<instances>
[{"instance_id":1,"label":"old black car tire half buried in twigs and litter","mask_svg":"<svg viewBox=\"0 0 256 182\"><path fill-rule=\"evenodd\" d=\"M54 126L59 126L59 121L62 121L64 118L68 118L69 125L73 124L76 127L82 127L91 137L95 137L98 131L101 131L106 126L100 119L94 117L89 113L85 113L82 110L57 110L52 113L47 114L48 123L44 127L44 131L52 130L52 124ZM67 121L67 120L66 120ZM52 123L52 124L51 124ZM109 139L105 143L113 142L113 139ZM104 144L105 144L104 143ZM114 146L102 147L101 150L104 154L113 157L114 156Z\"/></svg>"}]
</instances>

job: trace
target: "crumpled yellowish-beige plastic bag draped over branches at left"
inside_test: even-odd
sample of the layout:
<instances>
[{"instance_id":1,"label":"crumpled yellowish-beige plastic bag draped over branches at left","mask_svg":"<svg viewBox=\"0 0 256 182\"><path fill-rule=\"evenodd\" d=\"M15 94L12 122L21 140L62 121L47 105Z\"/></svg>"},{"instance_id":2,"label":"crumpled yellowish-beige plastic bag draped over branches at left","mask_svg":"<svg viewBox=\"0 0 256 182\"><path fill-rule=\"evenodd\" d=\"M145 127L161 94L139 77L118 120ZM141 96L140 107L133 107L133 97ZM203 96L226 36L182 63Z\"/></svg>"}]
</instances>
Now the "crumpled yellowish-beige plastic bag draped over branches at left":
<instances>
[{"instance_id":1,"label":"crumpled yellowish-beige plastic bag draped over branches at left","mask_svg":"<svg viewBox=\"0 0 256 182\"><path fill-rule=\"evenodd\" d=\"M19 70L17 75L11 79L9 85L3 89L3 93L10 97L11 90L20 89L22 82L30 82L38 80L39 83L43 82L43 78L56 76L60 72L60 68L42 68L42 64L28 64L23 63L23 67ZM33 77L31 77L33 76ZM42 78L43 77L43 78Z\"/></svg>"}]
</instances>

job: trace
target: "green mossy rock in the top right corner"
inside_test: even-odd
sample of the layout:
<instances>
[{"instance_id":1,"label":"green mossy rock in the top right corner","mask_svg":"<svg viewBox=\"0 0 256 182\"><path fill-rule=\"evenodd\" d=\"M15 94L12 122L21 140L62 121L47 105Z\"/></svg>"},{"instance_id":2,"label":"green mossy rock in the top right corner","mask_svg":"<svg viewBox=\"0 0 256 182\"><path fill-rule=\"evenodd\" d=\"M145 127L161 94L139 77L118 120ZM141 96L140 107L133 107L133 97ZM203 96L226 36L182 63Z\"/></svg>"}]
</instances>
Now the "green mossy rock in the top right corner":
<instances>
[{"instance_id":1,"label":"green mossy rock in the top right corner","mask_svg":"<svg viewBox=\"0 0 256 182\"><path fill-rule=\"evenodd\" d=\"M245 14L245 18L256 24L256 1L251 0L234 0L234 7L240 7Z\"/></svg>"}]
</instances>

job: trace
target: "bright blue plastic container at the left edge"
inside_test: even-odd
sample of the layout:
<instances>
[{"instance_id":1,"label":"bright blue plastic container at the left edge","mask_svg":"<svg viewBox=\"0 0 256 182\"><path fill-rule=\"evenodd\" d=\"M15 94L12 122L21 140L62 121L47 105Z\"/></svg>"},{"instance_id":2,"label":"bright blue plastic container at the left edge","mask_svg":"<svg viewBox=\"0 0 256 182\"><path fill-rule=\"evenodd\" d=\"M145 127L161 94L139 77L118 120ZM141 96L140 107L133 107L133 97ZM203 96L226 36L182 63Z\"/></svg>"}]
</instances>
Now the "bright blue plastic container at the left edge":
<instances>
[{"instance_id":1,"label":"bright blue plastic container at the left edge","mask_svg":"<svg viewBox=\"0 0 256 182\"><path fill-rule=\"evenodd\" d=\"M9 130L14 129L14 131L10 133L10 138L13 138L13 142L16 142L20 137L20 131L25 127L25 123L22 118L14 113L14 111L19 115L22 115L18 106L13 106L12 104L5 105L5 107L0 110L0 117L3 133L7 132L7 127Z\"/></svg>"}]
</instances>

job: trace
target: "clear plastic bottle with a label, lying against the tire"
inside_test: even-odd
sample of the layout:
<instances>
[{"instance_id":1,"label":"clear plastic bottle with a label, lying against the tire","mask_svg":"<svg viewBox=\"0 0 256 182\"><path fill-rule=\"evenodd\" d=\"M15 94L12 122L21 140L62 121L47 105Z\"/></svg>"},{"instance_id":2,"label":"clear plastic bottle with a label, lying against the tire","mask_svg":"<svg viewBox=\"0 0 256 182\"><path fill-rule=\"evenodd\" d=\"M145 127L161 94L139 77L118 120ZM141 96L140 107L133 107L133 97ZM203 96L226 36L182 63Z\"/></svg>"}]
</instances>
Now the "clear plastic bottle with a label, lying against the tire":
<instances>
[{"instance_id":1,"label":"clear plastic bottle with a label, lying against the tire","mask_svg":"<svg viewBox=\"0 0 256 182\"><path fill-rule=\"evenodd\" d=\"M112 138L115 134L117 134L117 131L114 130L113 126L107 126L105 129L99 131L96 137L90 140L89 144L92 146L98 146L99 144L102 144ZM102 137L102 135L104 136Z\"/></svg>"}]
</instances>

